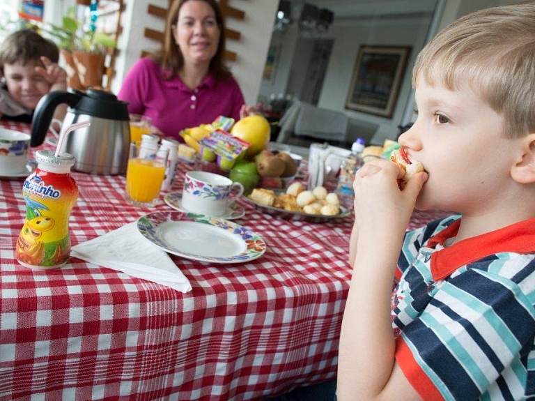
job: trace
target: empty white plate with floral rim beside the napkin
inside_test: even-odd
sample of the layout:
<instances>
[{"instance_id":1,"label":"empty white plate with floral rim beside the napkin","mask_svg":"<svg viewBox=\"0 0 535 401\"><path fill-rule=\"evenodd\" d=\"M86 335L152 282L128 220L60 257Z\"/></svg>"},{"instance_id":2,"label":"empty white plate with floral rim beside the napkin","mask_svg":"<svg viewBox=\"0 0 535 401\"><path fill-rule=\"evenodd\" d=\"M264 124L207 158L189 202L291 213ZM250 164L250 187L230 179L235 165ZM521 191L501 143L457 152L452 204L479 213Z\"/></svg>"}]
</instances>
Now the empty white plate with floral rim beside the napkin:
<instances>
[{"instance_id":1,"label":"empty white plate with floral rim beside the napkin","mask_svg":"<svg viewBox=\"0 0 535 401\"><path fill-rule=\"evenodd\" d=\"M157 211L139 218L137 229L164 251L201 262L249 262L265 252L265 242L250 229L206 215Z\"/></svg>"}]
</instances>

